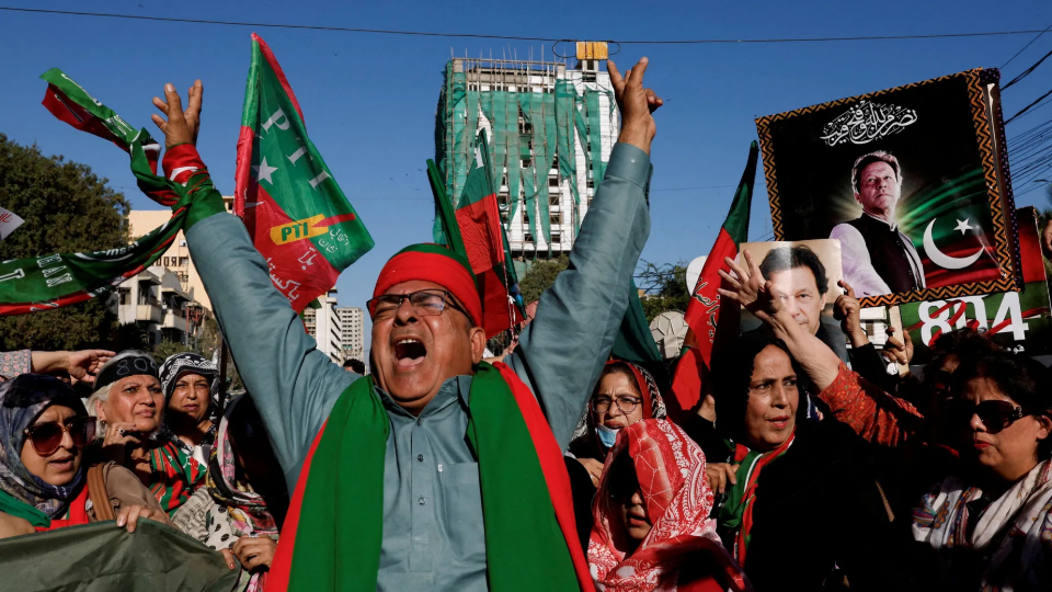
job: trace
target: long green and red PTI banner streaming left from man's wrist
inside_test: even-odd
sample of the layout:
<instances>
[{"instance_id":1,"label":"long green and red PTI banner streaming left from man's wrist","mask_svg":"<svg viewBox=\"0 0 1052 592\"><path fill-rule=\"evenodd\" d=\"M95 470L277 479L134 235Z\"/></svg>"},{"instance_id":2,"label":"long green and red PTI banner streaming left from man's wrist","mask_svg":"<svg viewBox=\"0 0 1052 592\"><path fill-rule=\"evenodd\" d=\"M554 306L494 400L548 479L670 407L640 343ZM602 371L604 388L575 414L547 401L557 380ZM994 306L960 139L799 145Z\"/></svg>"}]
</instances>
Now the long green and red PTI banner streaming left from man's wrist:
<instances>
[{"instance_id":1,"label":"long green and red PTI banner streaming left from man's wrist","mask_svg":"<svg viewBox=\"0 0 1052 592\"><path fill-rule=\"evenodd\" d=\"M146 129L136 130L58 68L43 76L43 104L57 118L115 144L132 157L139 187L159 204L171 206L187 191L157 173L160 146ZM106 294L156 261L183 227L186 208L160 228L106 251L55 253L0 263L0 315L25 315L69 306Z\"/></svg>"}]
</instances>

